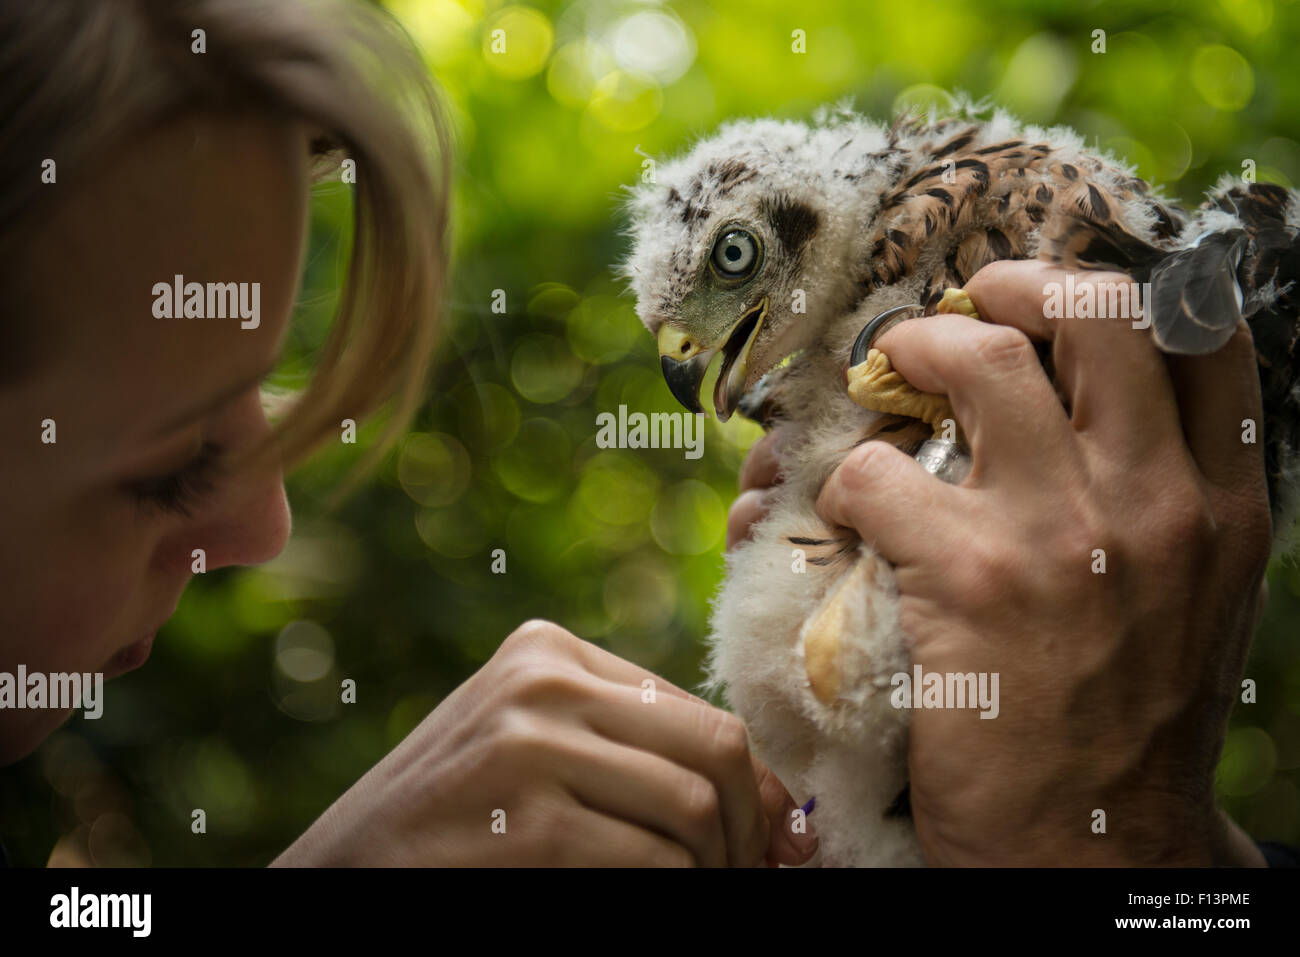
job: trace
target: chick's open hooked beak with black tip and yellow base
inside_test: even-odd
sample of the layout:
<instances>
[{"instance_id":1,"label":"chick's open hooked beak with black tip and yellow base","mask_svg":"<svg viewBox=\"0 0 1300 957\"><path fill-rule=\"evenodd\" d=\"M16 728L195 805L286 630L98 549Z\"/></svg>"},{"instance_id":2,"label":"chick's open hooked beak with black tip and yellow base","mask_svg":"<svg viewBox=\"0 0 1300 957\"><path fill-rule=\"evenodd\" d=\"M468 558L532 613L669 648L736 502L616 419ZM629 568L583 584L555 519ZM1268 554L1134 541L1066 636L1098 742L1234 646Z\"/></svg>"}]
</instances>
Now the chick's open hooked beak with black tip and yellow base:
<instances>
[{"instance_id":1,"label":"chick's open hooked beak with black tip and yellow base","mask_svg":"<svg viewBox=\"0 0 1300 957\"><path fill-rule=\"evenodd\" d=\"M692 412L703 412L699 404L699 386L708 372L708 363L718 351L723 354L723 367L714 386L714 408L719 421L731 419L749 374L749 352L758 338L758 330L767 319L767 296L748 309L718 342L705 345L680 328L664 322L659 328L659 367L668 384L668 391Z\"/></svg>"}]
</instances>

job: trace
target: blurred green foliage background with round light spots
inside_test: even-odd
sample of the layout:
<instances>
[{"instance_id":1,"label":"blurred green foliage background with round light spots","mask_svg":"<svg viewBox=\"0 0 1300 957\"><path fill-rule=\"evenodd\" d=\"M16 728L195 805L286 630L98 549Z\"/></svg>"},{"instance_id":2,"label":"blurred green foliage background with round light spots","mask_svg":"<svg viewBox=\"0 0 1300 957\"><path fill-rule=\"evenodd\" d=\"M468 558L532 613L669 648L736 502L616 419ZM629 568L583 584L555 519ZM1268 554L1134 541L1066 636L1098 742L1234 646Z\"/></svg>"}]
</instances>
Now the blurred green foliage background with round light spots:
<instances>
[{"instance_id":1,"label":"blurred green foliage background with round light spots","mask_svg":"<svg viewBox=\"0 0 1300 957\"><path fill-rule=\"evenodd\" d=\"M374 424L296 472L283 555L196 579L104 718L74 718L0 775L16 863L56 844L56 859L100 865L266 863L528 618L699 680L725 510L758 430L710 420L698 460L595 446L601 411L676 410L610 269L642 152L731 117L807 117L845 96L887 117L948 88L1069 124L1188 203L1247 160L1261 181L1300 182L1300 17L1283 0L389 7L458 135L429 400L338 511L324 502ZM489 49L498 27L504 55ZM344 186L316 189L283 384L303 381L324 338L348 202ZM1238 707L1218 787L1252 835L1300 843L1300 572L1275 563L1269 580L1248 668L1258 701ZM344 677L355 705L339 703ZM191 833L195 807L205 835Z\"/></svg>"}]
</instances>

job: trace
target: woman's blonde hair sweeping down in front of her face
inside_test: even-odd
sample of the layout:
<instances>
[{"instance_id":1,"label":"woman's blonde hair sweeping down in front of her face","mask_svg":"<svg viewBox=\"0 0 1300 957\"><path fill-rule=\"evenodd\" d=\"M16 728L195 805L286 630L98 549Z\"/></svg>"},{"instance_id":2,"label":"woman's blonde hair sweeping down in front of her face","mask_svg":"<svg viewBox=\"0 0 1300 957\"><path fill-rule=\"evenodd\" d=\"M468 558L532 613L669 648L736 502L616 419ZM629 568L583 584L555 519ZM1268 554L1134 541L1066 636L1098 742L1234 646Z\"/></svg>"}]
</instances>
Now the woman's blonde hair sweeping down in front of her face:
<instances>
[{"instance_id":1,"label":"woman's blonde hair sweeping down in front of her face","mask_svg":"<svg viewBox=\"0 0 1300 957\"><path fill-rule=\"evenodd\" d=\"M196 30L205 51L191 52ZM450 133L396 22L344 0L42 0L0 5L0 244L39 213L44 157L94 164L114 142L192 108L282 113L355 160L351 259L306 391L256 450L292 463L393 400L358 473L406 428L438 338L447 268ZM320 166L317 172L321 172ZM6 329L5 337L17 335ZM5 343L9 372L25 361ZM29 350L30 351L30 350ZM354 477L358 475L354 473Z\"/></svg>"}]
</instances>

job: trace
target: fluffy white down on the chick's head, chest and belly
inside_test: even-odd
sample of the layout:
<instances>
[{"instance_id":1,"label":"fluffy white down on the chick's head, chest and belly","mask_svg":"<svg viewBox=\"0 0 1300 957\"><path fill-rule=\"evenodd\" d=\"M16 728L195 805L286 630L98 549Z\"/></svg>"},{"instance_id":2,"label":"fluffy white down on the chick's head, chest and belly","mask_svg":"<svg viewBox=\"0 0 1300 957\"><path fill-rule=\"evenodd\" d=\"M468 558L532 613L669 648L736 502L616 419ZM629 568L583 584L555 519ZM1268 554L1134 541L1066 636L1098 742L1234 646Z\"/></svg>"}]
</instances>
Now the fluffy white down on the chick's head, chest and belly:
<instances>
[{"instance_id":1,"label":"fluffy white down on the chick's head, chest and belly","mask_svg":"<svg viewBox=\"0 0 1300 957\"><path fill-rule=\"evenodd\" d=\"M1095 174L1102 185L1131 173L1113 157L1087 150L1069 129L1022 127L1001 112L983 124L975 147L1023 138L1052 146L1063 163L1100 157L1113 164ZM911 150L915 161L923 163L927 139L904 135L897 143L902 161ZM790 274L772 294L777 303L793 287L809 290L807 315L786 316L784 324L775 317L774 328L764 329L770 355L802 348L781 372L783 408L793 426L781 452L784 484L753 540L727 559L725 584L712 610L707 681L724 690L745 720L755 753L796 800L815 796L810 820L820 836L820 852L814 865L922 863L910 818L885 814L906 783L907 768L909 713L889 701L890 676L910 668L893 572L868 542L855 546L855 557L827 566L809 563L797 572L797 546L789 541L836 534L814 514L814 502L876 415L845 394L844 369L853 339L883 309L916 302L923 277L932 274L942 256L941 250L922 252L909 276L853 306L854 264L867 259L879 196L898 174L897 165L888 168L885 159L874 155L887 143L884 126L842 108L823 113L812 125L732 122L685 156L663 163L656 182L634 190L628 202L633 246L623 273L651 333L676 316L720 224L753 218L760 199L777 194L811 205L819 217L809 255L797 265L781 265ZM698 187L707 168L734 159L758 176L725 191L710 192L707 182ZM688 192L693 185L706 212L689 220L680 207L670 205L668 196L670 191ZM1154 217L1138 202L1124 204L1115 218L1136 237L1154 235ZM1206 228L1223 225L1208 218ZM1035 255L1039 239L1037 231L1026 238L1026 255ZM827 705L810 685L802 631L846 575L853 576L846 585L852 601L840 638L840 690Z\"/></svg>"}]
</instances>

